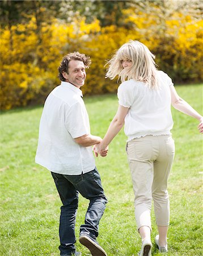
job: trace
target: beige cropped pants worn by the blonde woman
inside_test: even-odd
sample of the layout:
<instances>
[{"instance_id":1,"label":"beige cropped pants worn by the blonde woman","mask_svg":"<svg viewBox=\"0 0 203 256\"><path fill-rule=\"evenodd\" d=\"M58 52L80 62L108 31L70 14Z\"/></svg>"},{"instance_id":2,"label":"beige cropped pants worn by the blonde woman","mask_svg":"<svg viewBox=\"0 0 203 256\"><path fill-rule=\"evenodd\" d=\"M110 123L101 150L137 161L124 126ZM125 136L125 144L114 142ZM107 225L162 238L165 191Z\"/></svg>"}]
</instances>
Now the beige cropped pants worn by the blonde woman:
<instances>
[{"instance_id":1,"label":"beige cropped pants worn by the blonde woman","mask_svg":"<svg viewBox=\"0 0 203 256\"><path fill-rule=\"evenodd\" d=\"M171 135L136 138L126 145L135 195L134 206L137 228L151 229L151 201L158 226L170 222L170 202L167 181L175 154Z\"/></svg>"}]
</instances>

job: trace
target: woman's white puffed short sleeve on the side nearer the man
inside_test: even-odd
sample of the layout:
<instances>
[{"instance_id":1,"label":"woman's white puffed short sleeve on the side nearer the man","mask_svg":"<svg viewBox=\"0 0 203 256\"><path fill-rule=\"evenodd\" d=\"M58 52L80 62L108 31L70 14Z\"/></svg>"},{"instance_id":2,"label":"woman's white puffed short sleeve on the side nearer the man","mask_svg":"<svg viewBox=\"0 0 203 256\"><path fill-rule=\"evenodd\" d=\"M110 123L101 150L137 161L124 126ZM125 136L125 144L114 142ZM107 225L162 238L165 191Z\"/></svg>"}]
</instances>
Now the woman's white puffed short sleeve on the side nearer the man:
<instances>
[{"instance_id":1,"label":"woman's white puffed short sleeve on the side nearer the man","mask_svg":"<svg viewBox=\"0 0 203 256\"><path fill-rule=\"evenodd\" d=\"M124 106L125 108L130 108L134 101L134 88L130 84L130 81L122 82L120 84L117 97L119 98L119 105Z\"/></svg>"}]
</instances>

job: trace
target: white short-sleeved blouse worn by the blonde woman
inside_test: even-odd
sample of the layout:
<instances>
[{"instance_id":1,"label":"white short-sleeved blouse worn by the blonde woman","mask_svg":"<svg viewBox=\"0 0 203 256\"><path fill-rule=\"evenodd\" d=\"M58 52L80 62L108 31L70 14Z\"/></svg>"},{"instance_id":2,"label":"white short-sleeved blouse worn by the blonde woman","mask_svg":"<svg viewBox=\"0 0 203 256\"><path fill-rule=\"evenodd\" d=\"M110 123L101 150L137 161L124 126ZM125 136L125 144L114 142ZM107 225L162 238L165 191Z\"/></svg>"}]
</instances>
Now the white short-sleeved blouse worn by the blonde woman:
<instances>
[{"instance_id":1,"label":"white short-sleeved blouse worn by the blonde woman","mask_svg":"<svg viewBox=\"0 0 203 256\"><path fill-rule=\"evenodd\" d=\"M119 104L129 108L124 127L128 141L146 135L171 134L174 122L170 86L173 82L163 71L158 71L157 77L158 90L133 79L122 82L118 88Z\"/></svg>"}]
</instances>

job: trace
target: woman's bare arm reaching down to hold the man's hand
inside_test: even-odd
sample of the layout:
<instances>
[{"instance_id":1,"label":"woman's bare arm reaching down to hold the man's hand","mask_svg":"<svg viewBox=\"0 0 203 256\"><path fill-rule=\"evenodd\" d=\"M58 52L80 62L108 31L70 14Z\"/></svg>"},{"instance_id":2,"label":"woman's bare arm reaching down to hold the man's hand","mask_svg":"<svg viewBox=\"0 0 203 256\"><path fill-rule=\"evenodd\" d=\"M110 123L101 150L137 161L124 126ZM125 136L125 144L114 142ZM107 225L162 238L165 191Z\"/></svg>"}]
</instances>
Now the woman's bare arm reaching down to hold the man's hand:
<instances>
[{"instance_id":1,"label":"woman's bare arm reaching down to hold the man's hand","mask_svg":"<svg viewBox=\"0 0 203 256\"><path fill-rule=\"evenodd\" d=\"M105 134L103 141L96 145L95 151L100 152L107 148L108 144L111 143L112 139L119 133L122 126L124 126L124 120L126 114L128 114L129 108L119 105L117 113L111 121L107 133Z\"/></svg>"}]
</instances>

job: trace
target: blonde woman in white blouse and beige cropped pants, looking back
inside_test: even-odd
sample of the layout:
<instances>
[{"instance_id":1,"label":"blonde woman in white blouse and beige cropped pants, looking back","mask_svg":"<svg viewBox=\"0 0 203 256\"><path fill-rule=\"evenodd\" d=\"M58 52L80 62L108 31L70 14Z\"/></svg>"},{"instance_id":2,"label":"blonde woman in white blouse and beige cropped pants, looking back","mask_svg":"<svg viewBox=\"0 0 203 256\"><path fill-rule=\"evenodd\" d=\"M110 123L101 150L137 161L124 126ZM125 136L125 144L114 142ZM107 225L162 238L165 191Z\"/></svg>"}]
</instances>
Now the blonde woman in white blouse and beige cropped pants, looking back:
<instances>
[{"instance_id":1,"label":"blonde woman in white blouse and beige cropped pants, looking back","mask_svg":"<svg viewBox=\"0 0 203 256\"><path fill-rule=\"evenodd\" d=\"M114 79L118 75L122 82L117 92L119 108L103 141L94 148L98 153L104 150L125 123L136 222L142 238L140 256L151 255L152 199L159 232L155 243L159 251L167 251L170 218L167 180L175 152L170 132L173 126L171 104L198 119L198 129L203 133L202 115L178 96L170 77L156 69L154 59L144 44L130 40L109 61L106 77Z\"/></svg>"}]
</instances>

